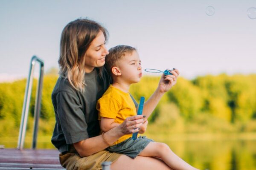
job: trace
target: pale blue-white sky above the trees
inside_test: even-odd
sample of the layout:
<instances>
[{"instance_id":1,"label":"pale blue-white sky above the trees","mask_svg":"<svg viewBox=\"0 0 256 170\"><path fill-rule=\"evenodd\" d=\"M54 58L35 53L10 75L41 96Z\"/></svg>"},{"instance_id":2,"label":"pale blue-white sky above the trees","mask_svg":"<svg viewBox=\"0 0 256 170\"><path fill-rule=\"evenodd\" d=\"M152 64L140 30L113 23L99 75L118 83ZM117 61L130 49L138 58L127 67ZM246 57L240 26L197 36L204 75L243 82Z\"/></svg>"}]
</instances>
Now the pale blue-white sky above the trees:
<instances>
[{"instance_id":1,"label":"pale blue-white sky above the trees","mask_svg":"<svg viewBox=\"0 0 256 170\"><path fill-rule=\"evenodd\" d=\"M0 76L26 77L33 55L57 68L61 31L79 17L108 29L108 48L136 47L143 68L175 67L189 79L256 74L252 7L256 0L0 0Z\"/></svg>"}]
</instances>

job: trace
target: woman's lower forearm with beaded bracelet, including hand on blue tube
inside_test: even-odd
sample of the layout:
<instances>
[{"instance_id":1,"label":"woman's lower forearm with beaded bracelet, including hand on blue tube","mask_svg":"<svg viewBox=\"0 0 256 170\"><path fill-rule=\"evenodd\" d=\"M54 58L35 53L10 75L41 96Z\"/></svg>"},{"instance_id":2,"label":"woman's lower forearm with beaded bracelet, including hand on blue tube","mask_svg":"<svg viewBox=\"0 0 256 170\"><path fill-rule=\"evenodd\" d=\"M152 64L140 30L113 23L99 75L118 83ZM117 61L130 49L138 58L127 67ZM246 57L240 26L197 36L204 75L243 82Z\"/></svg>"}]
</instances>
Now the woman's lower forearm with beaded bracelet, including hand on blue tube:
<instances>
[{"instance_id":1,"label":"woman's lower forearm with beaded bracelet, including hand on blue tube","mask_svg":"<svg viewBox=\"0 0 256 170\"><path fill-rule=\"evenodd\" d=\"M104 133L105 139L108 143L112 144L125 134L136 133L139 131L139 128L137 127L140 127L142 122L143 115L128 117L122 124ZM73 145L81 157L90 156L91 154L108 147L108 144L104 142L102 135L76 142Z\"/></svg>"}]
</instances>

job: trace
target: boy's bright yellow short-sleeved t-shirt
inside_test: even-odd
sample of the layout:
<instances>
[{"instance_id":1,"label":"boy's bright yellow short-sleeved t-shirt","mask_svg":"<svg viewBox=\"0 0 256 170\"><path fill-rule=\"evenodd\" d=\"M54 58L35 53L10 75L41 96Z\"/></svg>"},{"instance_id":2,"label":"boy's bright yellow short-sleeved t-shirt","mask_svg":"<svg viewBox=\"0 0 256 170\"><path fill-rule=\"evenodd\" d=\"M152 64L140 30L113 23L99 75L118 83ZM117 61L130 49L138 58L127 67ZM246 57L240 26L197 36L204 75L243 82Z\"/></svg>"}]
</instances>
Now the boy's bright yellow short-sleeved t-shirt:
<instances>
[{"instance_id":1,"label":"boy's bright yellow short-sleeved t-shirt","mask_svg":"<svg viewBox=\"0 0 256 170\"><path fill-rule=\"evenodd\" d=\"M125 93L118 88L109 86L107 91L98 100L96 109L101 117L112 118L116 123L122 123L129 116L137 115L133 100L129 93ZM127 134L119 138L114 144L125 141L132 134Z\"/></svg>"}]
</instances>

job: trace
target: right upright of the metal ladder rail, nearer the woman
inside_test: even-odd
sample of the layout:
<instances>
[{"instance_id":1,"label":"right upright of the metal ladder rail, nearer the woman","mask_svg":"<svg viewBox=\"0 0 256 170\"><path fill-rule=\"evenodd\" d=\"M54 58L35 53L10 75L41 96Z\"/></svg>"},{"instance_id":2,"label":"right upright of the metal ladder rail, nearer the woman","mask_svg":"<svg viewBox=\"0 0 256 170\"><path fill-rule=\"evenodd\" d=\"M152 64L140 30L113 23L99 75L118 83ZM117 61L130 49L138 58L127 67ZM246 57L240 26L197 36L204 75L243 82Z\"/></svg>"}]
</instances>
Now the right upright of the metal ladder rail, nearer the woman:
<instances>
[{"instance_id":1,"label":"right upright of the metal ladder rail, nearer the woman","mask_svg":"<svg viewBox=\"0 0 256 170\"><path fill-rule=\"evenodd\" d=\"M44 76L44 62L40 62L40 74L38 79L38 87L35 97L35 111L34 111L34 129L33 129L33 142L32 142L32 149L36 148L37 143L37 134L38 134L38 121L40 117L41 111L41 98L42 98L42 87L43 87L43 76Z\"/></svg>"}]
</instances>

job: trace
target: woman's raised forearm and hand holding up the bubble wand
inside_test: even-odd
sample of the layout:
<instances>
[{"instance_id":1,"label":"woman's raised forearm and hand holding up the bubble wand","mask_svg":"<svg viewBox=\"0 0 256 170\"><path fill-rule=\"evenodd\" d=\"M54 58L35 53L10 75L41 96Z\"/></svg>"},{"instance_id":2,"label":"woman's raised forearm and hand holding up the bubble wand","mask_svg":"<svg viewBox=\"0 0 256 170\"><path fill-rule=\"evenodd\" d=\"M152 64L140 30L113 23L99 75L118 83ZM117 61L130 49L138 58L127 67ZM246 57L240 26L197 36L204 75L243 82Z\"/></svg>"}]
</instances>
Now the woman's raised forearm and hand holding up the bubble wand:
<instances>
[{"instance_id":1,"label":"woman's raised forearm and hand holding up the bubble wand","mask_svg":"<svg viewBox=\"0 0 256 170\"><path fill-rule=\"evenodd\" d=\"M150 98L145 102L143 108L143 114L147 116L147 118L151 115L156 108L158 102L162 98L163 94L166 91L169 91L172 86L174 86L177 82L177 77L180 74L177 69L170 71L172 75L165 76L162 75L160 82L158 84L157 90L150 96Z\"/></svg>"}]
</instances>

